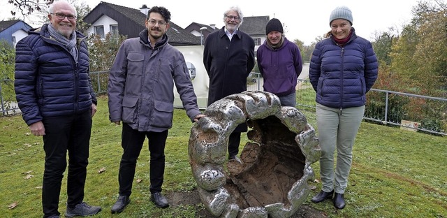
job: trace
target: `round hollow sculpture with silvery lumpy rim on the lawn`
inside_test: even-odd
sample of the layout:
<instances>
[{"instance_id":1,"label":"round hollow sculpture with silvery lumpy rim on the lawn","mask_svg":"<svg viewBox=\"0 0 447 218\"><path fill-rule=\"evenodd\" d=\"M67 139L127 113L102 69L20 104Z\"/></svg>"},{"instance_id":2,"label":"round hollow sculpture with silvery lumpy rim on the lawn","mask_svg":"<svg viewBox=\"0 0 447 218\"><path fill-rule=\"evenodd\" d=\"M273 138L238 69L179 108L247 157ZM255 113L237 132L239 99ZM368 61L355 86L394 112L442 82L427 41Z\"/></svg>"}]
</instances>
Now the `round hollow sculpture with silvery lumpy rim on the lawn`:
<instances>
[{"instance_id":1,"label":"round hollow sculpture with silvery lumpy rim on the lawn","mask_svg":"<svg viewBox=\"0 0 447 218\"><path fill-rule=\"evenodd\" d=\"M309 194L321 150L314 128L269 92L247 91L210 105L191 128L189 163L215 217L291 217ZM251 142L226 162L228 136L247 122ZM227 163L226 165L224 165Z\"/></svg>"}]
</instances>

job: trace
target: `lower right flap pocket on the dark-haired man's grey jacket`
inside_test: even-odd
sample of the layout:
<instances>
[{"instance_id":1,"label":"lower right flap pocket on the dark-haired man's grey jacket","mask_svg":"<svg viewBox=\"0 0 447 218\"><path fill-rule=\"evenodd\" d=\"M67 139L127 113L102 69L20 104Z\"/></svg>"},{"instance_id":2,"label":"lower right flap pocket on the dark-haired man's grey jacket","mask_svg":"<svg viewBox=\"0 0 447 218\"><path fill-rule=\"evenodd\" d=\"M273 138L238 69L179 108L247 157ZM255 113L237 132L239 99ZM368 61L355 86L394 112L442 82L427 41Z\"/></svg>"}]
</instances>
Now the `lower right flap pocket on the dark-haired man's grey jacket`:
<instances>
[{"instance_id":1,"label":"lower right flap pocket on the dark-haired man's grey jacket","mask_svg":"<svg viewBox=\"0 0 447 218\"><path fill-rule=\"evenodd\" d=\"M165 101L155 101L154 103L152 126L170 129L173 126L174 104Z\"/></svg>"}]
</instances>

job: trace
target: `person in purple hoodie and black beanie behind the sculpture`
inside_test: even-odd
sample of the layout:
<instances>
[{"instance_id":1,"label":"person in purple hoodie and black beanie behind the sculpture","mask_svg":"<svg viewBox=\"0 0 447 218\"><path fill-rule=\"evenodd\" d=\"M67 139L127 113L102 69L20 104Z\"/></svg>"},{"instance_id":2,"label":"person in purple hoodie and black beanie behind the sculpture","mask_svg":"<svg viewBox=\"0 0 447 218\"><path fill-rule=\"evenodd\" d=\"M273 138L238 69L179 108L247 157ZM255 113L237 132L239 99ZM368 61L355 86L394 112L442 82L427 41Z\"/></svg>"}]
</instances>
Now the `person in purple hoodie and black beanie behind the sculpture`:
<instances>
[{"instance_id":1,"label":"person in purple hoodie and black beanie behind the sculpture","mask_svg":"<svg viewBox=\"0 0 447 218\"><path fill-rule=\"evenodd\" d=\"M267 40L256 54L259 72L264 78L264 91L277 95L281 106L295 107L295 87L302 71L300 49L284 36L277 18L267 23L265 34Z\"/></svg>"}]
</instances>

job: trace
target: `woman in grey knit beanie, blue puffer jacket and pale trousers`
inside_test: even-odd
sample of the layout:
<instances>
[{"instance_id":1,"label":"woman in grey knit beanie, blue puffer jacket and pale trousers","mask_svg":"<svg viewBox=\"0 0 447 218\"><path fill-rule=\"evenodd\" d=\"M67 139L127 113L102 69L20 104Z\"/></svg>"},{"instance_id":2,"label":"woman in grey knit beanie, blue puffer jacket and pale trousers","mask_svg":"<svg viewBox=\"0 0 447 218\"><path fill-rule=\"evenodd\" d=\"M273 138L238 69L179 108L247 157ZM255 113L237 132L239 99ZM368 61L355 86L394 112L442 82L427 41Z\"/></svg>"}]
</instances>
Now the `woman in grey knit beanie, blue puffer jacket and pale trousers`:
<instances>
[{"instance_id":1,"label":"woman in grey knit beanie, blue puffer jacket and pale trousers","mask_svg":"<svg viewBox=\"0 0 447 218\"><path fill-rule=\"evenodd\" d=\"M309 66L309 80L316 92L316 119L320 140L321 191L318 203L333 198L343 209L344 191L352 163L352 149L363 113L366 93L377 79L378 63L372 44L356 35L349 8L332 10L328 38L318 42ZM334 172L334 153L337 166Z\"/></svg>"}]
</instances>

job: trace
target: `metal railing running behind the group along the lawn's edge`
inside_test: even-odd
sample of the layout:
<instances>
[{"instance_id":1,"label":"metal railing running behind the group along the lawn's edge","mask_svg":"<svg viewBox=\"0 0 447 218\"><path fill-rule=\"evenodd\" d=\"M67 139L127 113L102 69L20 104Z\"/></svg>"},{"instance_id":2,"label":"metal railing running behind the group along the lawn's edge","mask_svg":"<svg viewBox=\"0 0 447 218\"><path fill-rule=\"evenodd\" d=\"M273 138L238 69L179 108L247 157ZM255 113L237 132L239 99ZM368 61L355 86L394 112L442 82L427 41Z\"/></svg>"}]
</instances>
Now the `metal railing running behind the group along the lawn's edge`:
<instances>
[{"instance_id":1,"label":"metal railing running behind the group along the lawn's edge","mask_svg":"<svg viewBox=\"0 0 447 218\"><path fill-rule=\"evenodd\" d=\"M263 78L259 73L251 73L247 82L247 90L263 90ZM91 72L91 83L97 94L106 93L108 71ZM3 116L20 113L13 90L12 80L0 80ZM315 104L315 91L309 80L298 79L296 107L314 112ZM364 119L447 136L447 99L371 89L367 94Z\"/></svg>"}]
</instances>

